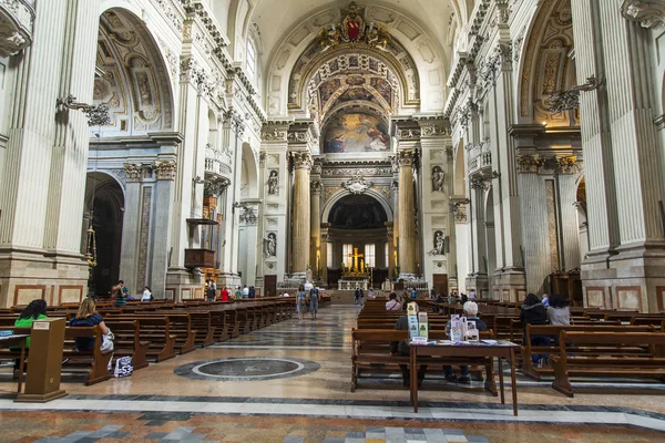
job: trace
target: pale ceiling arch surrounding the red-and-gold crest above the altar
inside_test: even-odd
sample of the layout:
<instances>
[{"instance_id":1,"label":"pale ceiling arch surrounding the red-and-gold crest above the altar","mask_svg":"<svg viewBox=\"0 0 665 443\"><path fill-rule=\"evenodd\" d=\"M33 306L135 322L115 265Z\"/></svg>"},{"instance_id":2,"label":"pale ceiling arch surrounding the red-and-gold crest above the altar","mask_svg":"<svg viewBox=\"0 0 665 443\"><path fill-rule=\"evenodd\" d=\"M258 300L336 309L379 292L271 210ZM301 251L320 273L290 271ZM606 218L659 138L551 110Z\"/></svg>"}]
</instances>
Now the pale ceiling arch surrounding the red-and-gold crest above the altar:
<instances>
[{"instance_id":1,"label":"pale ceiling arch surrounding the red-and-gold crest above the altar","mask_svg":"<svg viewBox=\"0 0 665 443\"><path fill-rule=\"evenodd\" d=\"M383 107L390 107L393 114L418 110L439 112L442 109L448 92L446 79L453 50L446 41L451 20L457 20L458 17L458 0L368 0L356 3L365 25L376 25L388 35L386 45L369 48L369 51L366 51L369 44L367 41L350 47L321 44L321 32L334 27L340 29L340 23L351 4L349 0L335 0L316 6L300 0L260 0L253 8L252 21L258 27L266 55L264 100L269 115L308 114L314 89L318 87L310 81L320 83L317 80L319 71L324 73L321 80L330 76L332 72L328 71L332 70L335 63L339 66L348 64L346 71L349 74L372 74L371 69L360 72L364 71L362 63L358 66L351 65L351 56L358 60L367 58L368 63L371 63L371 56L377 56L380 59L379 64L391 71L388 76L399 80L399 87L392 82L391 90L401 93L400 100L391 101L390 106L382 103ZM329 60L337 53L340 53L344 60ZM380 72L386 70L379 68ZM341 71L339 74L345 73ZM391 83L388 78L385 80ZM371 79L367 81L369 83ZM369 87L365 90L364 92L372 92ZM330 106L318 103L316 107L320 113Z\"/></svg>"}]
</instances>

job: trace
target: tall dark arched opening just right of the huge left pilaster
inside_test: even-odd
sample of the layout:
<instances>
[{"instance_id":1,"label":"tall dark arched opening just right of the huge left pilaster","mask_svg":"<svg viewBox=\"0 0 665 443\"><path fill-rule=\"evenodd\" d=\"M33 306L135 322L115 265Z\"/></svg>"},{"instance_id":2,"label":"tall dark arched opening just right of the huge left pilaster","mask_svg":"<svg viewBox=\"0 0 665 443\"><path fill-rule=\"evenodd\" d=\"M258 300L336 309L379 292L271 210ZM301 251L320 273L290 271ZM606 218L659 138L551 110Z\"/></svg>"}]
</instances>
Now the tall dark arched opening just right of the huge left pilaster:
<instances>
[{"instance_id":1,"label":"tall dark arched opening just right of the huge left pilaster","mask_svg":"<svg viewBox=\"0 0 665 443\"><path fill-rule=\"evenodd\" d=\"M88 230L92 219L96 246L96 266L91 271L89 288L94 293L109 293L120 278L124 194L112 177L102 173L89 173L85 195L83 229ZM88 235L84 235L84 253L88 245Z\"/></svg>"}]
</instances>

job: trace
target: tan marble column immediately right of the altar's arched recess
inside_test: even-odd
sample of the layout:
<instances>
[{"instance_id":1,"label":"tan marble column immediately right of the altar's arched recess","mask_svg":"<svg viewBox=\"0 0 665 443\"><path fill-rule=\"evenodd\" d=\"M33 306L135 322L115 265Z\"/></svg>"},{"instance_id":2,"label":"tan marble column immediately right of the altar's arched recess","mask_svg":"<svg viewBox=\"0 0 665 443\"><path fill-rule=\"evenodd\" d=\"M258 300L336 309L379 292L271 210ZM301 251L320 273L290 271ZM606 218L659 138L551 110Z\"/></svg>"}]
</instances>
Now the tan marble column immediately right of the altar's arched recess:
<instances>
[{"instance_id":1,"label":"tan marble column immediately right of the altar's arched recess","mask_svg":"<svg viewBox=\"0 0 665 443\"><path fill-rule=\"evenodd\" d=\"M400 278L410 278L416 274L416 216L413 202L413 161L416 152L398 152L399 162L399 267Z\"/></svg>"}]
</instances>

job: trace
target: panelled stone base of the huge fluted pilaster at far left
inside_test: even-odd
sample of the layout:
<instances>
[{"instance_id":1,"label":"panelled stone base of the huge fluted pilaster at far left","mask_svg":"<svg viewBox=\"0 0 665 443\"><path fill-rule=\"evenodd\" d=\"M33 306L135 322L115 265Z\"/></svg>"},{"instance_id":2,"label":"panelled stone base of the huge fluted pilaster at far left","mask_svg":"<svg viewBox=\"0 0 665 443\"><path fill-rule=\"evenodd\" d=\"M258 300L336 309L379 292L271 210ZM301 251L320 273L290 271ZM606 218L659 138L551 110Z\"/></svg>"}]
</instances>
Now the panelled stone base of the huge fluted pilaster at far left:
<instances>
[{"instance_id":1,"label":"panelled stone base of the huge fluted pilaster at far left","mask_svg":"<svg viewBox=\"0 0 665 443\"><path fill-rule=\"evenodd\" d=\"M89 268L80 255L39 250L0 250L0 308L34 299L49 306L81 302L88 296Z\"/></svg>"}]
</instances>

